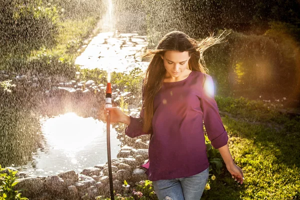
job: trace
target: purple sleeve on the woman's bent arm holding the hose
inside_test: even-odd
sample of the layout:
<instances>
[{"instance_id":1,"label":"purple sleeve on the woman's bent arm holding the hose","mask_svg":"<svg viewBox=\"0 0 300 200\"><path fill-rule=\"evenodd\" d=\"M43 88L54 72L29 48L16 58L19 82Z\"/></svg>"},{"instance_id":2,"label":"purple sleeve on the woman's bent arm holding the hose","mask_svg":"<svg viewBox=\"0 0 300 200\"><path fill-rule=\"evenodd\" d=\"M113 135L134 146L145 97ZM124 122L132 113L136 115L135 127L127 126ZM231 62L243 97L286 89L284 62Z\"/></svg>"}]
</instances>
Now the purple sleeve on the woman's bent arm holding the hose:
<instances>
[{"instance_id":1,"label":"purple sleeve on the woman's bent arm holding the hose","mask_svg":"<svg viewBox=\"0 0 300 200\"><path fill-rule=\"evenodd\" d=\"M143 104L143 97L144 97L144 91L143 91L143 87L142 87L142 104ZM142 130L143 114L144 114L144 108L142 106L141 110L139 112L139 117L129 116L130 117L130 123L125 128L125 134L126 135L128 135L129 137L137 137L139 135L150 134L151 133L152 129L150 129L148 132L144 132Z\"/></svg>"}]
</instances>

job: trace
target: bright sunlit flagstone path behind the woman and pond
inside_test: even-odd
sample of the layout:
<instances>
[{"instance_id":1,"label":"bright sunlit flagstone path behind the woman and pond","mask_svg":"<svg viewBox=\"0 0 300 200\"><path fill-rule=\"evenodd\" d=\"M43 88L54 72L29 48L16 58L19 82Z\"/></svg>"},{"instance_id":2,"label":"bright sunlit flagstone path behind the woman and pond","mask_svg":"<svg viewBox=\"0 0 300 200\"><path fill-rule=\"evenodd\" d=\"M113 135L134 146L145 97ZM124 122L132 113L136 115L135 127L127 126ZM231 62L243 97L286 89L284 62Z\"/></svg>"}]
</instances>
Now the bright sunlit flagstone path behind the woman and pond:
<instances>
[{"instance_id":1,"label":"bright sunlit flagstone path behind the woman and pond","mask_svg":"<svg viewBox=\"0 0 300 200\"><path fill-rule=\"evenodd\" d=\"M141 61L148 42L144 35L137 33L100 32L87 45L75 60L81 68L115 72L129 72L135 67L145 71L149 62Z\"/></svg>"}]
</instances>

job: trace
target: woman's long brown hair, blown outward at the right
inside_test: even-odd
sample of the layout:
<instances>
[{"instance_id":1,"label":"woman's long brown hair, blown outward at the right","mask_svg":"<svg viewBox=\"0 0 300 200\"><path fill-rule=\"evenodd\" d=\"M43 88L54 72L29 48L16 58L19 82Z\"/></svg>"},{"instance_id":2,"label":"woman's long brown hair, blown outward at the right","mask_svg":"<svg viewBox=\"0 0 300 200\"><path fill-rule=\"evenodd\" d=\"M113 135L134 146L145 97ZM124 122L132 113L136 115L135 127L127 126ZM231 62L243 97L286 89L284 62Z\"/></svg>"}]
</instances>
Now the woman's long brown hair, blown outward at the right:
<instances>
[{"instance_id":1,"label":"woman's long brown hair, blown outward at the right","mask_svg":"<svg viewBox=\"0 0 300 200\"><path fill-rule=\"evenodd\" d=\"M164 55L167 50L175 50L179 52L188 51L188 68L194 71L206 73L208 69L205 67L203 52L211 45L222 42L224 37L221 37L222 32L218 37L213 34L209 37L196 41L190 38L187 34L181 31L171 31L165 34L158 42L154 49L147 49L141 56L153 56L145 73L143 82L143 131L148 132L152 127L153 117L153 100L163 84L166 70L163 65L163 59L160 55Z\"/></svg>"}]
</instances>

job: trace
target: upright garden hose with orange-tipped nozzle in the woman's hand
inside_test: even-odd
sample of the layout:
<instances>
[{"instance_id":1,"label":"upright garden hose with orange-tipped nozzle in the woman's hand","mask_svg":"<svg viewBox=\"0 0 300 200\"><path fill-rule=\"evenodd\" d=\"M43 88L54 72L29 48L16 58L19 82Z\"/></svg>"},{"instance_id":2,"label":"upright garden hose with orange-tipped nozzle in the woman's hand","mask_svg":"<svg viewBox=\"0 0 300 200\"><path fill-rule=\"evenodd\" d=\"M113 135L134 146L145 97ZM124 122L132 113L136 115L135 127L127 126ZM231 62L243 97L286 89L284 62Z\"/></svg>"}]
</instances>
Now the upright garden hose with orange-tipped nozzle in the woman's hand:
<instances>
[{"instance_id":1,"label":"upright garden hose with orange-tipped nozzle in the woman's hand","mask_svg":"<svg viewBox=\"0 0 300 200\"><path fill-rule=\"evenodd\" d=\"M108 68L108 72L107 72L107 85L106 85L106 93L105 93L105 108L106 107L112 107L109 68ZM111 156L110 156L110 111L108 111L108 115L106 117L106 143L107 143L107 161L108 161L110 199L114 200L113 184L112 184L112 172L111 172Z\"/></svg>"}]
</instances>

